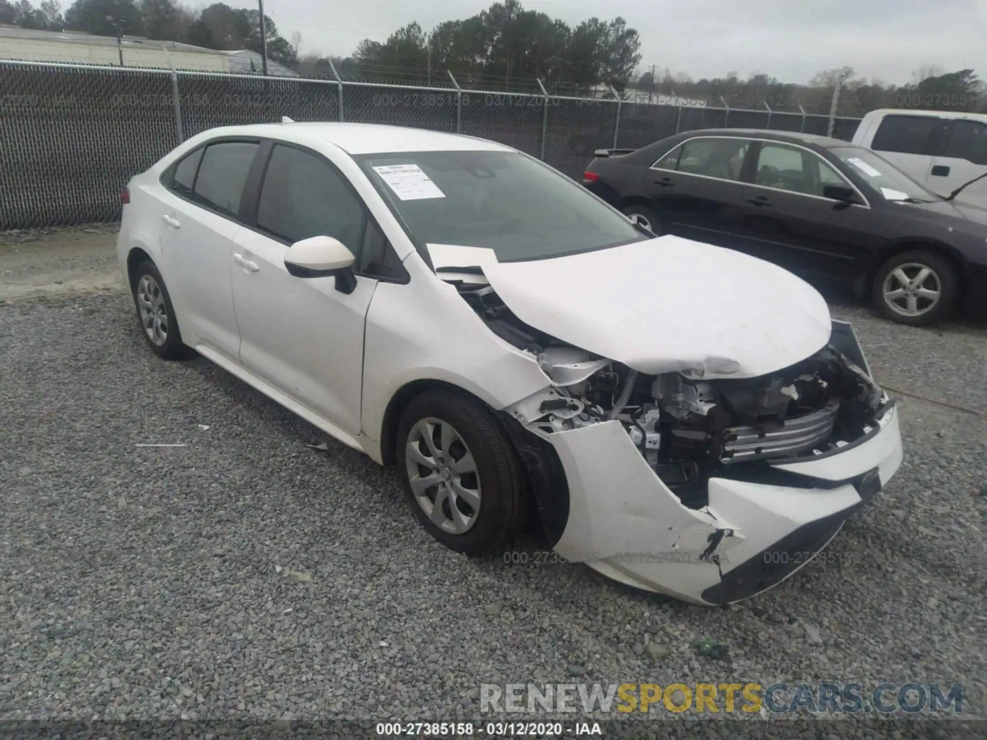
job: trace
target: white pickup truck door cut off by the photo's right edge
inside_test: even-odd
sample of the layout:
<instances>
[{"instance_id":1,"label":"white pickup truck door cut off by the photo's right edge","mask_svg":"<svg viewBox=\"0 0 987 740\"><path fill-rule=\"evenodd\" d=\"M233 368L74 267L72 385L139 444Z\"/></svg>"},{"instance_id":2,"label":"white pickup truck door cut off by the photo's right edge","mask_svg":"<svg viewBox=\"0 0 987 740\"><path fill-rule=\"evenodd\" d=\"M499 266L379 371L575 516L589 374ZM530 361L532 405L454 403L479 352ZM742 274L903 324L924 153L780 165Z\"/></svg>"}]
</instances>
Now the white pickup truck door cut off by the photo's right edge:
<instances>
[{"instance_id":1,"label":"white pickup truck door cut off by the photo's right edge","mask_svg":"<svg viewBox=\"0 0 987 740\"><path fill-rule=\"evenodd\" d=\"M972 118L944 119L925 186L949 195L984 173L987 173L987 123ZM987 178L963 188L956 199L987 205Z\"/></svg>"}]
</instances>

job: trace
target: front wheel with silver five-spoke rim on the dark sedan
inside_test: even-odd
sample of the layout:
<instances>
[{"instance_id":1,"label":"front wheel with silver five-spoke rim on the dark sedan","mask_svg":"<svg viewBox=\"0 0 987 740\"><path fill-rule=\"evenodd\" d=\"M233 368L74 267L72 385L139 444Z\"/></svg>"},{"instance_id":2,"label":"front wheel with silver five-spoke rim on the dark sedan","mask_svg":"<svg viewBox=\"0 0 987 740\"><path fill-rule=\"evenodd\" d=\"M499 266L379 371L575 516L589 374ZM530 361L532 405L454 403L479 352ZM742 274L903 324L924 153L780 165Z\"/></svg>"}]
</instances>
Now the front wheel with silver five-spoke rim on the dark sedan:
<instances>
[{"instance_id":1,"label":"front wheel with silver five-spoke rim on the dark sedan","mask_svg":"<svg viewBox=\"0 0 987 740\"><path fill-rule=\"evenodd\" d=\"M873 278L873 303L885 318L912 327L944 319L959 293L956 271L932 252L895 255Z\"/></svg>"}]
</instances>

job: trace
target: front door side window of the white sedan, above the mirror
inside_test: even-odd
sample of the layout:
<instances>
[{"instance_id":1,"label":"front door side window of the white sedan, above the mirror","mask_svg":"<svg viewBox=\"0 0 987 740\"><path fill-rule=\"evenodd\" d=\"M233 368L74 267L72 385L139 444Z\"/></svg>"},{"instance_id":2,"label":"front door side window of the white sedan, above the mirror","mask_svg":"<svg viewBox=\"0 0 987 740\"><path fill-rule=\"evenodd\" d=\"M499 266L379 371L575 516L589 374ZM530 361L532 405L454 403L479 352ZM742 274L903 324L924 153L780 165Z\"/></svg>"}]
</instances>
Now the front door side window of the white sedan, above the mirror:
<instances>
[{"instance_id":1,"label":"front door side window of the white sedan, above the mirror","mask_svg":"<svg viewBox=\"0 0 987 740\"><path fill-rule=\"evenodd\" d=\"M257 225L288 244L334 237L356 255L363 206L324 158L278 145L267 163Z\"/></svg>"}]
</instances>

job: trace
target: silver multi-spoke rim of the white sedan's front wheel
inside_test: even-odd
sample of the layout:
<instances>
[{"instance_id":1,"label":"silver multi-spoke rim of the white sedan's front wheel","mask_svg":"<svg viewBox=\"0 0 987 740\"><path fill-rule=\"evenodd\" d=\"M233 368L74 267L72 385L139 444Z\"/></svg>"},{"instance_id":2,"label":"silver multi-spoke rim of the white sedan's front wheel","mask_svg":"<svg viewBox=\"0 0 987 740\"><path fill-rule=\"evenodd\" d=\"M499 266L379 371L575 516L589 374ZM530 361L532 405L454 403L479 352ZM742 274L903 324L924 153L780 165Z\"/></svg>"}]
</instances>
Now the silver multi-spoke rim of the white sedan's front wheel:
<instances>
[{"instance_id":1,"label":"silver multi-spoke rim of the white sedan's front wheel","mask_svg":"<svg viewBox=\"0 0 987 740\"><path fill-rule=\"evenodd\" d=\"M427 416L408 435L408 481L418 506L436 527L468 532L480 514L480 475L473 453L452 424Z\"/></svg>"}]
</instances>

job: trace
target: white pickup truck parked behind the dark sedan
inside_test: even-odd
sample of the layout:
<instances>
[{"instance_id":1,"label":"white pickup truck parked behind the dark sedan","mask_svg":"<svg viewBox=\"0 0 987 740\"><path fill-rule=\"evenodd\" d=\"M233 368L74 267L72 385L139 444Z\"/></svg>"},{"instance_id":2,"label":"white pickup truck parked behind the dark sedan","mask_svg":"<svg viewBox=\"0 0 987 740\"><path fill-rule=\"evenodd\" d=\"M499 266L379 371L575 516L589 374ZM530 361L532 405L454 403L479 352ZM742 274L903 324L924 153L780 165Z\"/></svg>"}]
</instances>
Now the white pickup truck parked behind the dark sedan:
<instances>
[{"instance_id":1,"label":"white pickup truck parked behind the dark sedan","mask_svg":"<svg viewBox=\"0 0 987 740\"><path fill-rule=\"evenodd\" d=\"M854 143L933 192L949 195L962 187L956 200L987 207L987 113L871 111Z\"/></svg>"}]
</instances>

